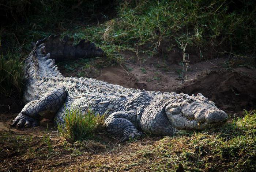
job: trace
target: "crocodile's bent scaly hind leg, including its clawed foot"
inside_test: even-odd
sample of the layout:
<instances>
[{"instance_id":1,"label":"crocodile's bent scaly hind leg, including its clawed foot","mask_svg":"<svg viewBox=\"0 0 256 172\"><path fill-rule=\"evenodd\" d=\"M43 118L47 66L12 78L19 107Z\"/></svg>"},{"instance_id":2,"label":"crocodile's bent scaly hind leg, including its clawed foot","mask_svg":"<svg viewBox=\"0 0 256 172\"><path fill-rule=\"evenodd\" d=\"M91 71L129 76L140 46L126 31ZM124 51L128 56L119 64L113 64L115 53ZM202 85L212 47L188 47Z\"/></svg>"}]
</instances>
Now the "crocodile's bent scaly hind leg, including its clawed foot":
<instances>
[{"instance_id":1,"label":"crocodile's bent scaly hind leg, including its clawed foot","mask_svg":"<svg viewBox=\"0 0 256 172\"><path fill-rule=\"evenodd\" d=\"M63 105L66 93L63 87L54 87L37 100L27 103L11 126L18 128L35 127L42 118L52 119L57 110Z\"/></svg>"}]
</instances>

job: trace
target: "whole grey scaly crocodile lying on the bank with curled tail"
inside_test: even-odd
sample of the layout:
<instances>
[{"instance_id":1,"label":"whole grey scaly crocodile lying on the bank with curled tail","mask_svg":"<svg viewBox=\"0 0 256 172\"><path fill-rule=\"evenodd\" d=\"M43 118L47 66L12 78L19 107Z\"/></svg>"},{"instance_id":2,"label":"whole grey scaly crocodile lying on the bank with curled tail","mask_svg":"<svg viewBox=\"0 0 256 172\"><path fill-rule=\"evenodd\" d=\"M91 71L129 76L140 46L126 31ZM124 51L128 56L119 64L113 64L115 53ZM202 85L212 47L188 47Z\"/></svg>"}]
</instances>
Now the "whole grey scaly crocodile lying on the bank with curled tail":
<instances>
[{"instance_id":1,"label":"whole grey scaly crocodile lying on the bank with curled tail","mask_svg":"<svg viewBox=\"0 0 256 172\"><path fill-rule=\"evenodd\" d=\"M216 128L227 114L202 94L161 93L125 88L92 78L64 77L55 62L106 56L94 43L60 35L38 40L25 60L24 108L11 126L35 127L42 118L65 126L66 110L79 108L104 115L105 128L120 141L143 136L173 135L179 130Z\"/></svg>"}]
</instances>

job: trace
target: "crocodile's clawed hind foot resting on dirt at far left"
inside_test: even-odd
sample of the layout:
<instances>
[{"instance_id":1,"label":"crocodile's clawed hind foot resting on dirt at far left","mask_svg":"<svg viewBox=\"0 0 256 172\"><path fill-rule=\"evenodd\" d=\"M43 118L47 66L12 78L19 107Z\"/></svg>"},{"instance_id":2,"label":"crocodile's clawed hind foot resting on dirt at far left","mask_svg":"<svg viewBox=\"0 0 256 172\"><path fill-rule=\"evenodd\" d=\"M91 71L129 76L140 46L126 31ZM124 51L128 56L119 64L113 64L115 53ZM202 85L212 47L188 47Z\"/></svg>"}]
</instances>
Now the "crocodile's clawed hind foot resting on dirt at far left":
<instances>
[{"instance_id":1,"label":"crocodile's clawed hind foot resting on dirt at far left","mask_svg":"<svg viewBox=\"0 0 256 172\"><path fill-rule=\"evenodd\" d=\"M22 128L23 126L26 128L35 127L39 125L39 121L26 116L24 114L18 114L18 116L13 120L10 126L16 126L18 128Z\"/></svg>"}]
</instances>

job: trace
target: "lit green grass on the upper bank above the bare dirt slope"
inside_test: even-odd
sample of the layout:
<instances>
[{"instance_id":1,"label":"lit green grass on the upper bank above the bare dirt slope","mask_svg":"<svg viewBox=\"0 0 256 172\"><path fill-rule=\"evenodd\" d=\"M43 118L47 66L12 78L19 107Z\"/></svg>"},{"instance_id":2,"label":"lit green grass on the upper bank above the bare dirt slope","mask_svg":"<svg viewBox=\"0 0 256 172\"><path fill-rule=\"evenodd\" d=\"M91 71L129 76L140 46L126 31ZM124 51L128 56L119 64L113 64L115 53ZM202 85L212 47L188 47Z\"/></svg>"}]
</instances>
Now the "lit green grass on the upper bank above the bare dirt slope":
<instances>
[{"instance_id":1,"label":"lit green grass on the upper bank above the bare dirt slope","mask_svg":"<svg viewBox=\"0 0 256 172\"><path fill-rule=\"evenodd\" d=\"M231 57L253 58L256 47L256 10L253 1L236 7L234 1L137 1L120 3L117 17L98 26L77 27L66 34L94 40L110 59L123 62L115 52L131 50L157 53L162 42L166 51L180 48L187 59L198 52L201 58L213 51ZM150 5L148 5L150 4ZM234 8L234 9L233 9ZM182 60L182 59L181 59Z\"/></svg>"}]
</instances>

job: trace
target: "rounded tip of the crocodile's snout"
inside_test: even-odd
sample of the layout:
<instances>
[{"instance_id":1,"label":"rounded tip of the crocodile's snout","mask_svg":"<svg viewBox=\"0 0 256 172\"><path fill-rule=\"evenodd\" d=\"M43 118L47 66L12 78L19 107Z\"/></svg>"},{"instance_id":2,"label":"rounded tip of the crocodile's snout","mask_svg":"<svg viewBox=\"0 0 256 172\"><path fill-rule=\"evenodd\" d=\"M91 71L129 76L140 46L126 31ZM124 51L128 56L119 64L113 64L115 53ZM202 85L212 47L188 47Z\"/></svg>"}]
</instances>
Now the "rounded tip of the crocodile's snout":
<instances>
[{"instance_id":1,"label":"rounded tip of the crocodile's snout","mask_svg":"<svg viewBox=\"0 0 256 172\"><path fill-rule=\"evenodd\" d=\"M216 123L216 122L224 122L227 120L227 114L222 110L207 110L206 111L206 122L207 123Z\"/></svg>"}]
</instances>

